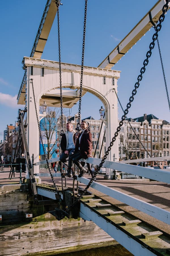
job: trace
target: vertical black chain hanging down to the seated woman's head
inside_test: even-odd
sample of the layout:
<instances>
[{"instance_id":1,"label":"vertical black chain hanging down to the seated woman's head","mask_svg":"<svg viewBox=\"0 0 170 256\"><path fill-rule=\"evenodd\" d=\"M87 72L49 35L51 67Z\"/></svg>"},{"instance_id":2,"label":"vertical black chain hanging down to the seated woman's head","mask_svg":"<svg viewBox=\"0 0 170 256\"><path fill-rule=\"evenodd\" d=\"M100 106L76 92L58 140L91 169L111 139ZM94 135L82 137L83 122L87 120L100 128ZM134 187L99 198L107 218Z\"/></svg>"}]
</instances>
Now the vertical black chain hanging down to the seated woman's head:
<instances>
[{"instance_id":1,"label":"vertical black chain hanging down to the seated woman's head","mask_svg":"<svg viewBox=\"0 0 170 256\"><path fill-rule=\"evenodd\" d=\"M78 123L77 123L77 128L76 128L77 130L80 130L80 113L81 113L81 98L82 98L82 83L83 83L84 48L85 48L85 36L86 36L86 16L87 16L87 0L85 0L85 10L84 10L82 64L81 64L81 75L80 75L80 99L79 99L79 107L78 107Z\"/></svg>"}]
</instances>

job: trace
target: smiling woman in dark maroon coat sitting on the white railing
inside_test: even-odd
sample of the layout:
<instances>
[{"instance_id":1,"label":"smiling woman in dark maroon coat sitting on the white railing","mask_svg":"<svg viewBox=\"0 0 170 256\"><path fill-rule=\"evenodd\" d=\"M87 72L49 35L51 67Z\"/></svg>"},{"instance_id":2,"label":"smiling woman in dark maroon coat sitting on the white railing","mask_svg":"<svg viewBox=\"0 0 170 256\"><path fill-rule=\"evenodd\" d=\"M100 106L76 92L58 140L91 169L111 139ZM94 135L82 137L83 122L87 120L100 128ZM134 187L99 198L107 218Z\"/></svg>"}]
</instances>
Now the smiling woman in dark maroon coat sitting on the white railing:
<instances>
[{"instance_id":1,"label":"smiling woman in dark maroon coat sitting on the white railing","mask_svg":"<svg viewBox=\"0 0 170 256\"><path fill-rule=\"evenodd\" d=\"M78 166L80 169L80 174L78 177L82 177L86 173L86 169L80 163L80 159L87 159L88 157L92 157L92 133L90 131L89 123L87 121L81 122L82 132L79 133L78 138L76 140L75 152L71 156L69 156L70 160ZM88 170L92 177L94 176L91 165L88 165Z\"/></svg>"}]
</instances>

